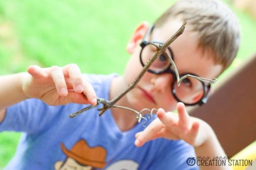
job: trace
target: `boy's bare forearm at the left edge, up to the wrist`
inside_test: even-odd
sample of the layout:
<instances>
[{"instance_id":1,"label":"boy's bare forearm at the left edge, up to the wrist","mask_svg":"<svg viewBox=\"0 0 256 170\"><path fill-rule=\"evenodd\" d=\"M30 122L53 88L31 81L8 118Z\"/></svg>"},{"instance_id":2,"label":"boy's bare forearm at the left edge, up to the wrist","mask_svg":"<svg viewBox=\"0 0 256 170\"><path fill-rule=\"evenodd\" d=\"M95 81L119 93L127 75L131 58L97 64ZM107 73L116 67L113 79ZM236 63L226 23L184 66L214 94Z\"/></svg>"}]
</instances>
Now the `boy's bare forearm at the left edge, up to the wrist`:
<instances>
[{"instance_id":1,"label":"boy's bare forearm at the left edge, up to the wrist","mask_svg":"<svg viewBox=\"0 0 256 170\"><path fill-rule=\"evenodd\" d=\"M18 103L28 97L22 92L22 80L27 73L0 76L0 110Z\"/></svg>"}]
</instances>

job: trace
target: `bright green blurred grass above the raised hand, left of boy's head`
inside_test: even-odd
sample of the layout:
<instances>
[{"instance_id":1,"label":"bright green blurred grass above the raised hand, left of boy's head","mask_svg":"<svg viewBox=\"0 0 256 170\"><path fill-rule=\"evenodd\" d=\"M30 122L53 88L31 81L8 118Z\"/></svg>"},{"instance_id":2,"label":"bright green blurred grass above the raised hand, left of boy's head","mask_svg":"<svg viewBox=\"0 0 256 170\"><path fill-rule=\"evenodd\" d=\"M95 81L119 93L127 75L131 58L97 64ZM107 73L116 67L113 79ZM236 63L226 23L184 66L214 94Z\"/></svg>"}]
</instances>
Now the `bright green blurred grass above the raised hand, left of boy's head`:
<instances>
[{"instance_id":1,"label":"bright green blurred grass above the raised hand, left of boy's head","mask_svg":"<svg viewBox=\"0 0 256 170\"><path fill-rule=\"evenodd\" d=\"M152 22L166 8L167 3L156 2L8 0L0 2L0 12L13 24L26 60L44 67L73 62L83 72L121 73L128 58L126 43L135 26L143 20ZM111 67L102 67L106 61ZM31 62L8 64L7 72L19 72Z\"/></svg>"}]
</instances>

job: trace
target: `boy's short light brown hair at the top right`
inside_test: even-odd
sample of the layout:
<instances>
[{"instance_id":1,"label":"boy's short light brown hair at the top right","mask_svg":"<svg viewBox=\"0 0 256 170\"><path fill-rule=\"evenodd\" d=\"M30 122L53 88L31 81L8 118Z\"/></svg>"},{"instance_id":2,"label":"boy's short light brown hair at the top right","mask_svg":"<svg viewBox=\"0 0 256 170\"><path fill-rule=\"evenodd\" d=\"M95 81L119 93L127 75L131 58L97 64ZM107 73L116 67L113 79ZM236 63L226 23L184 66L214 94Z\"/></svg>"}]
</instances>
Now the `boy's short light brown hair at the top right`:
<instances>
[{"instance_id":1,"label":"boy's short light brown hair at the top right","mask_svg":"<svg viewBox=\"0 0 256 170\"><path fill-rule=\"evenodd\" d=\"M240 45L238 20L220 0L179 0L154 23L161 27L174 17L181 17L198 33L198 46L215 54L215 62L228 67Z\"/></svg>"}]
</instances>

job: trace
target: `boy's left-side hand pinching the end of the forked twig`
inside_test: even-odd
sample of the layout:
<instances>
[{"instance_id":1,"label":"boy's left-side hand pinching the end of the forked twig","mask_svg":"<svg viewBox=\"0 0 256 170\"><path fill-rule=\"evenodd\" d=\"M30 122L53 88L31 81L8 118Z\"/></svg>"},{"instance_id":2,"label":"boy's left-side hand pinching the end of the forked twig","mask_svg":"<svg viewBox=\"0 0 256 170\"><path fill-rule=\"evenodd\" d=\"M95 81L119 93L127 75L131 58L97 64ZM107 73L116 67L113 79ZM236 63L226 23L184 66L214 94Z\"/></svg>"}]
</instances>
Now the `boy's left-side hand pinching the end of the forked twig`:
<instances>
[{"instance_id":1,"label":"boy's left-side hand pinching the end of the forked twig","mask_svg":"<svg viewBox=\"0 0 256 170\"><path fill-rule=\"evenodd\" d=\"M82 103L96 105L96 94L89 82L82 78L76 64L64 67L28 67L21 82L21 90L28 98L38 98L49 105ZM85 97L86 96L86 97Z\"/></svg>"}]
</instances>

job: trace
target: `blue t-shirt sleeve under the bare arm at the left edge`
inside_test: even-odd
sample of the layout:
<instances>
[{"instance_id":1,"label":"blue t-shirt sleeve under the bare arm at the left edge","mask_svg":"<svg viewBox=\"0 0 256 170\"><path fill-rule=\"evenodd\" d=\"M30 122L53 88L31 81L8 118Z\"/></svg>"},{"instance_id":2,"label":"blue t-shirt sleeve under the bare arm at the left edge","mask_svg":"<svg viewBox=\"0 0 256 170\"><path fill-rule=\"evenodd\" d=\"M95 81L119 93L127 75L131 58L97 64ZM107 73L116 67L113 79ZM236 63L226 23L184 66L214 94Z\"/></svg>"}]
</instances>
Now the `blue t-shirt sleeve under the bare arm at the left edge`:
<instances>
[{"instance_id":1,"label":"blue t-shirt sleeve under the bare arm at the left edge","mask_svg":"<svg viewBox=\"0 0 256 170\"><path fill-rule=\"evenodd\" d=\"M17 131L28 134L47 128L54 121L63 106L49 106L39 99L27 99L6 109L6 116L0 123L0 131Z\"/></svg>"}]
</instances>

